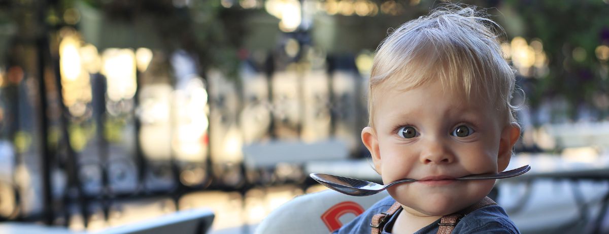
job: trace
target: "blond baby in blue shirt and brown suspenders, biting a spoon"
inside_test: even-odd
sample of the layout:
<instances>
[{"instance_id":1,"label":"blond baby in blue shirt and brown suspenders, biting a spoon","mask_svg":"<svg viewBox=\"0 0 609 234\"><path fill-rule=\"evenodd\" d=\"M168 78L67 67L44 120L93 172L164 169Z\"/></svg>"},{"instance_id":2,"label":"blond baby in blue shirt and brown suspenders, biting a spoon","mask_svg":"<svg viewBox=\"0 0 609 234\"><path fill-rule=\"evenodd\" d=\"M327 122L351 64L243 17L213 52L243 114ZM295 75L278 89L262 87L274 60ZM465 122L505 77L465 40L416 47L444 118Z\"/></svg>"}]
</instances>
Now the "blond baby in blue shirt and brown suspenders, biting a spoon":
<instances>
[{"instance_id":1,"label":"blond baby in blue shirt and brown suspenders, biting a spoon","mask_svg":"<svg viewBox=\"0 0 609 234\"><path fill-rule=\"evenodd\" d=\"M487 194L520 127L510 104L515 71L495 22L448 5L395 29L376 51L362 141L387 184L380 200L334 233L519 233Z\"/></svg>"}]
</instances>

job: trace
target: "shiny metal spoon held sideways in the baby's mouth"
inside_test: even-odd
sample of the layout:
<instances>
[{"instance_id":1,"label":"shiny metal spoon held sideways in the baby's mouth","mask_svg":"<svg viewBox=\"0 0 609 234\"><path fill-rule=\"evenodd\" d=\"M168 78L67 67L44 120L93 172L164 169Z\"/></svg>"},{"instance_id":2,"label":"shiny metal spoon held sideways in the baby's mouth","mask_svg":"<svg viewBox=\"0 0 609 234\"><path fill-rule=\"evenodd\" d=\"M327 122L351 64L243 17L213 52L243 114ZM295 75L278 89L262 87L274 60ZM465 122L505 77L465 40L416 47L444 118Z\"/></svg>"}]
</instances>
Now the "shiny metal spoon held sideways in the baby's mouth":
<instances>
[{"instance_id":1,"label":"shiny metal spoon held sideways in the baby's mouth","mask_svg":"<svg viewBox=\"0 0 609 234\"><path fill-rule=\"evenodd\" d=\"M490 174L474 174L470 176L464 176L460 178L456 178L456 180L487 180L487 179L504 179L509 177L520 176L525 172L529 171L531 167L529 165L522 166L520 168L512 169L510 171L504 171L499 173L490 173ZM415 182L415 179L401 179L396 180L388 185L379 185L375 182L370 182L366 180L353 179L349 177L342 176L333 176L328 174L321 173L311 173L309 176L311 178L317 180L317 182L322 185L331 188L334 191L338 191L339 193L351 195L351 196L370 196L372 194L380 193L381 191L389 188L390 186L396 185L398 183L406 183L406 182Z\"/></svg>"}]
</instances>

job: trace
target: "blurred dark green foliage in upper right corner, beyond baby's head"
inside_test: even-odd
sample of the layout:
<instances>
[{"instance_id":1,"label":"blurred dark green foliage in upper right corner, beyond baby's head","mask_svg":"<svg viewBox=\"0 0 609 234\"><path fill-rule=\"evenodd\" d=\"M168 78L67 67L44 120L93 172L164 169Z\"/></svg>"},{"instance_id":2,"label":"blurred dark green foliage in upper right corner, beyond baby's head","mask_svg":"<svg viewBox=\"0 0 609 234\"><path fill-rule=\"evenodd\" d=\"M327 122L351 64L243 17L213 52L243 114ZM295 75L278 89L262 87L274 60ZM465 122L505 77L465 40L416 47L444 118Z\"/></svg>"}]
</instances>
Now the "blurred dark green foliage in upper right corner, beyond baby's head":
<instances>
[{"instance_id":1,"label":"blurred dark green foliage in upper right corner, beyond baby's head","mask_svg":"<svg viewBox=\"0 0 609 234\"><path fill-rule=\"evenodd\" d=\"M595 53L597 46L609 44L609 4L593 0L508 0L503 4L515 9L527 23L521 36L543 41L549 59L550 72L538 82L537 93L531 97L533 104L558 93L577 107L591 102L595 91L609 90L607 80L600 76L600 66L607 62L597 59ZM576 49L585 51L583 59L574 56Z\"/></svg>"}]
</instances>

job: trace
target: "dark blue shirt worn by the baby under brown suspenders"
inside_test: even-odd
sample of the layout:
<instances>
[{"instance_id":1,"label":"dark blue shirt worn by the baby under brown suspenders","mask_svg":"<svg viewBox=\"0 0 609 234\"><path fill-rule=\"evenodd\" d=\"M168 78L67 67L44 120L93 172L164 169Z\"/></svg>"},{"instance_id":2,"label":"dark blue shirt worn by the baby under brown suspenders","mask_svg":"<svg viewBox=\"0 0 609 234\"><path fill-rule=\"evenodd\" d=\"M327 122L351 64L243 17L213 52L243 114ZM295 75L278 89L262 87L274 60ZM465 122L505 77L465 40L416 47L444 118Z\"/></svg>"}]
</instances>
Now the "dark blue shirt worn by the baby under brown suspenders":
<instances>
[{"instance_id":1,"label":"dark blue shirt worn by the baby under brown suspenders","mask_svg":"<svg viewBox=\"0 0 609 234\"><path fill-rule=\"evenodd\" d=\"M370 230L370 222L372 220L372 216L379 214L381 212L385 212L393 205L395 200L393 197L387 196L384 199L376 202L375 205L368 208L364 213L357 216L353 221L348 224L343 225L339 230L334 231L333 233L362 233L368 234L371 232ZM396 211L396 213L387 221L384 229L382 230L383 234L389 234L389 230L393 227L395 223L395 219L398 217L398 214L401 212L400 210ZM423 229L418 230L414 234L435 234L438 232L438 219L435 222L423 227ZM516 225L510 220L510 218L505 213L505 210L501 208L499 205L490 205L488 207L479 208L466 215L459 221L452 230L452 233L520 233L516 228Z\"/></svg>"}]
</instances>

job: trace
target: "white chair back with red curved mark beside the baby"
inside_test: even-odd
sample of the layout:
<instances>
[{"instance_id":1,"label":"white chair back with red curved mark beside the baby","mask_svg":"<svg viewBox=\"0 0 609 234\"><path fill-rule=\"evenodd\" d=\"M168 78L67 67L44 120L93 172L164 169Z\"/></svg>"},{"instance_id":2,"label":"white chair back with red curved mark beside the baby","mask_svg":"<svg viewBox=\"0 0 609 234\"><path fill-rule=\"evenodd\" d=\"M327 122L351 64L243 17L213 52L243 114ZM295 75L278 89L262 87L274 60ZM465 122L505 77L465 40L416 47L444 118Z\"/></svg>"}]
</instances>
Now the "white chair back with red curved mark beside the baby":
<instances>
[{"instance_id":1,"label":"white chair back with red curved mark beside the baby","mask_svg":"<svg viewBox=\"0 0 609 234\"><path fill-rule=\"evenodd\" d=\"M272 211L255 233L329 233L364 213L385 196L389 196L387 191L354 197L333 190L298 196Z\"/></svg>"}]
</instances>

